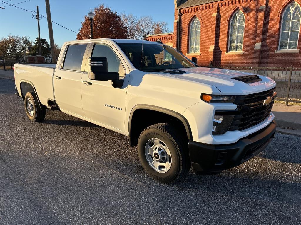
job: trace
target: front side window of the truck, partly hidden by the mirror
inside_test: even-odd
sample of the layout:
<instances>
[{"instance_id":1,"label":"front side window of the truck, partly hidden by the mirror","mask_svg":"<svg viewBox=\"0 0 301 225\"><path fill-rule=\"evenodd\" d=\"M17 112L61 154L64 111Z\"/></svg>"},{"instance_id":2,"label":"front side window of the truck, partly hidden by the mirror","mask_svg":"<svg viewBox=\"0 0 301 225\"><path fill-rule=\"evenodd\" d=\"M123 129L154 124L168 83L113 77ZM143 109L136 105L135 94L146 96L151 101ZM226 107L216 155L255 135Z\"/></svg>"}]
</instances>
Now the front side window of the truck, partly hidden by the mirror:
<instances>
[{"instance_id":1,"label":"front side window of the truck, partly hidden by the mirror","mask_svg":"<svg viewBox=\"0 0 301 225\"><path fill-rule=\"evenodd\" d=\"M106 44L95 44L92 57L106 57L108 60L108 72L117 72L119 76L125 76L126 70L110 46Z\"/></svg>"}]
</instances>

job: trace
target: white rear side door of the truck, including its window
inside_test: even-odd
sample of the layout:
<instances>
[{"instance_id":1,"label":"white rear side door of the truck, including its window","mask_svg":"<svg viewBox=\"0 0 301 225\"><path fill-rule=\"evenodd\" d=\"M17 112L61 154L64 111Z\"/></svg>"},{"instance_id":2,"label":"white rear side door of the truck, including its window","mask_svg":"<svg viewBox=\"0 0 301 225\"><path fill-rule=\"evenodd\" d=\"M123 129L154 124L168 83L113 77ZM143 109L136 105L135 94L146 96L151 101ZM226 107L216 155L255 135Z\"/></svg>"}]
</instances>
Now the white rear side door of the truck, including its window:
<instances>
[{"instance_id":1,"label":"white rear side door of the truck, including its window","mask_svg":"<svg viewBox=\"0 0 301 225\"><path fill-rule=\"evenodd\" d=\"M88 44L67 46L64 62L54 74L54 97L61 110L84 116L81 82Z\"/></svg>"}]
</instances>

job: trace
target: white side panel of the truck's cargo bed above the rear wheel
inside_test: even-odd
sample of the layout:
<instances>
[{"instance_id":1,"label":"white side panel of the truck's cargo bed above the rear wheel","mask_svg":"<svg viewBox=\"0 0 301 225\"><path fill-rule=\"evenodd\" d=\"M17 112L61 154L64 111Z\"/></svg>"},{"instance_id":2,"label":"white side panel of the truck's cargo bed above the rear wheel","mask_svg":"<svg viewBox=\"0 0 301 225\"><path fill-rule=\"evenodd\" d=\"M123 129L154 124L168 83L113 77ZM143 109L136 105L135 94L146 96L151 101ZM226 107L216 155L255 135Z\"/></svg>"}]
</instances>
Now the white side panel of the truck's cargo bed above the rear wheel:
<instances>
[{"instance_id":1,"label":"white side panel of the truck's cargo bed above the rear wheel","mask_svg":"<svg viewBox=\"0 0 301 225\"><path fill-rule=\"evenodd\" d=\"M39 93L40 102L48 105L48 98L54 99L52 80L55 67L56 64L14 64L14 76L18 90L22 91L22 81L29 81Z\"/></svg>"}]
</instances>

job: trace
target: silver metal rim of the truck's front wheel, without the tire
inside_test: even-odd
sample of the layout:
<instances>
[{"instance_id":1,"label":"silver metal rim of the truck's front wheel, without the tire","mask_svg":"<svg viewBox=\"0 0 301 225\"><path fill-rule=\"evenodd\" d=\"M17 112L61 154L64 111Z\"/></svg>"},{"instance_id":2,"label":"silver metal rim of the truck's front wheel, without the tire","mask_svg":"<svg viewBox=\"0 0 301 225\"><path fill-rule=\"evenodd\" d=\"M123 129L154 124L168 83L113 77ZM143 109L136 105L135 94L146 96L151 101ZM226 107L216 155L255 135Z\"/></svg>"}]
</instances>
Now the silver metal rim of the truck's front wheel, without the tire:
<instances>
[{"instance_id":1,"label":"silver metal rim of the truck's front wheel, without the tire","mask_svg":"<svg viewBox=\"0 0 301 225\"><path fill-rule=\"evenodd\" d=\"M148 164L159 173L166 173L172 164L169 148L158 138L152 138L147 141L145 144L145 157Z\"/></svg>"}]
</instances>

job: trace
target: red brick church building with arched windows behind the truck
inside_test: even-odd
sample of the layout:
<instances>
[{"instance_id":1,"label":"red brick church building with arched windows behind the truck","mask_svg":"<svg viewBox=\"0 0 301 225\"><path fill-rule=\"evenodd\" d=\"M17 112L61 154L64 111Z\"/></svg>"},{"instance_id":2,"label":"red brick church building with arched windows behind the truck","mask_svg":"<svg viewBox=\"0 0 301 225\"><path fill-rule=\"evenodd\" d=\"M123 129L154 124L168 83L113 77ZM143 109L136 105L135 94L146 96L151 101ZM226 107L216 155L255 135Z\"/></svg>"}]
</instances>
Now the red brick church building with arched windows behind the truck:
<instances>
[{"instance_id":1,"label":"red brick church building with arched windows behind the truck","mask_svg":"<svg viewBox=\"0 0 301 225\"><path fill-rule=\"evenodd\" d=\"M301 0L175 0L174 32L149 35L202 66L301 67Z\"/></svg>"}]
</instances>

